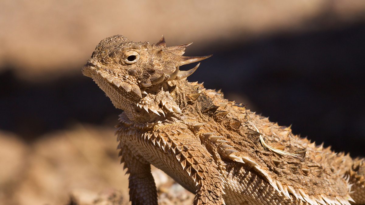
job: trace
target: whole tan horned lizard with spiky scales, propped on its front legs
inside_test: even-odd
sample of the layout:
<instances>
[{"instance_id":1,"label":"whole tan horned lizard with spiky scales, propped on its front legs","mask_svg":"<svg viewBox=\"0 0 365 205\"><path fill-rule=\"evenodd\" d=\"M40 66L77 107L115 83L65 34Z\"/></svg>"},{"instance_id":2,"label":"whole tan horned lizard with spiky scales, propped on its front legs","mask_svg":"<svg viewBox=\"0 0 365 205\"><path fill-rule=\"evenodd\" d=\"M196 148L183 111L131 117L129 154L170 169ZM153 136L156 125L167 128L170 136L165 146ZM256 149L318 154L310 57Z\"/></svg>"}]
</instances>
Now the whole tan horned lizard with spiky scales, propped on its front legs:
<instances>
[{"instance_id":1,"label":"whole tan horned lizard with spiky scales, propped on its front legs","mask_svg":"<svg viewBox=\"0 0 365 205\"><path fill-rule=\"evenodd\" d=\"M191 43L166 47L122 35L102 40L83 67L120 114L119 155L132 204L157 204L150 165L195 193L194 204L364 204L364 159L293 135L188 82Z\"/></svg>"}]
</instances>

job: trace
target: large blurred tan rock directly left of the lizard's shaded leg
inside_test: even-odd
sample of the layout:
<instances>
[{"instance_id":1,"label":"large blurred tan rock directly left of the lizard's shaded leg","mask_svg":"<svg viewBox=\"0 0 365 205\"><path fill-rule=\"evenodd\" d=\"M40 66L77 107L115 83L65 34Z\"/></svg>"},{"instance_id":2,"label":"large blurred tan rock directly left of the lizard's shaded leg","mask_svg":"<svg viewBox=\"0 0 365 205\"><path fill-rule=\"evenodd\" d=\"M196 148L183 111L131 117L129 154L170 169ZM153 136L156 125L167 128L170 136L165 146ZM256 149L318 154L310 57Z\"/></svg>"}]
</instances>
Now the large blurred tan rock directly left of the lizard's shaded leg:
<instances>
[{"instance_id":1,"label":"large blurred tan rock directly left of the lizard's shaded leg","mask_svg":"<svg viewBox=\"0 0 365 205\"><path fill-rule=\"evenodd\" d=\"M16 200L19 204L65 204L75 189L99 193L113 187L127 192L116 145L112 128L78 125L43 136L31 147Z\"/></svg>"}]
</instances>

